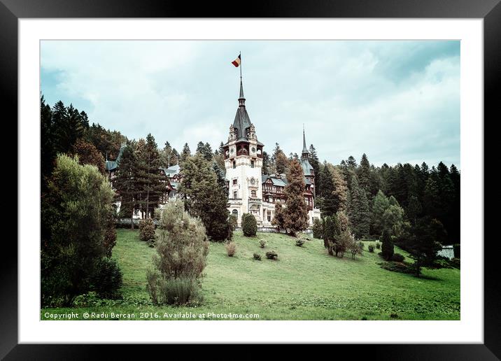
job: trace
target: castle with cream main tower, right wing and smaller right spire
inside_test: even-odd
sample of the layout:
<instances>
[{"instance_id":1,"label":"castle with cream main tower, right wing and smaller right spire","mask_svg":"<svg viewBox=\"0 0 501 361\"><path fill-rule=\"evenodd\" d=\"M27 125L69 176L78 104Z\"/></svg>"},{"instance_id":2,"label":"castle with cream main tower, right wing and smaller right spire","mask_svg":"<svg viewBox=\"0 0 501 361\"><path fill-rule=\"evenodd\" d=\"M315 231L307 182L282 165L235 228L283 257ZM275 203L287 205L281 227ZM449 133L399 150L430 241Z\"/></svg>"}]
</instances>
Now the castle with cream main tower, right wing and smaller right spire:
<instances>
[{"instance_id":1,"label":"castle with cream main tower, right wing and smaller right spire","mask_svg":"<svg viewBox=\"0 0 501 361\"><path fill-rule=\"evenodd\" d=\"M257 140L255 127L246 110L244 87L240 79L239 107L230 135L224 145L226 179L228 181L228 211L237 216L240 225L241 215L251 213L258 227L272 227L275 203L285 203L283 192L287 179L284 174L262 174L262 148ZM320 219L320 210L315 208L315 173L309 162L309 151L303 129L303 150L300 163L304 173L304 201L308 205L309 225L315 218Z\"/></svg>"}]
</instances>

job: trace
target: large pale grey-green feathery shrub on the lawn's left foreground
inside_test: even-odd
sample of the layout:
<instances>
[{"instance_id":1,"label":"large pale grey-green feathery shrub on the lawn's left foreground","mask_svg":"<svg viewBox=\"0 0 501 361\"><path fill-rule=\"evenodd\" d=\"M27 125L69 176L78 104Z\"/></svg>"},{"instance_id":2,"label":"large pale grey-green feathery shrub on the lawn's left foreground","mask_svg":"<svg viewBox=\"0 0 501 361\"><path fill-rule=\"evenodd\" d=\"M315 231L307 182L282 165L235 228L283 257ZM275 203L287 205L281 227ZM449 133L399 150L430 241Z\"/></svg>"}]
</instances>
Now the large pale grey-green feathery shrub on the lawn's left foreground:
<instances>
[{"instance_id":1,"label":"large pale grey-green feathery shrub on the lawn's left foreground","mask_svg":"<svg viewBox=\"0 0 501 361\"><path fill-rule=\"evenodd\" d=\"M153 267L146 272L146 289L153 304L196 304L209 241L199 218L184 211L183 201L169 201L162 211Z\"/></svg>"}]
</instances>

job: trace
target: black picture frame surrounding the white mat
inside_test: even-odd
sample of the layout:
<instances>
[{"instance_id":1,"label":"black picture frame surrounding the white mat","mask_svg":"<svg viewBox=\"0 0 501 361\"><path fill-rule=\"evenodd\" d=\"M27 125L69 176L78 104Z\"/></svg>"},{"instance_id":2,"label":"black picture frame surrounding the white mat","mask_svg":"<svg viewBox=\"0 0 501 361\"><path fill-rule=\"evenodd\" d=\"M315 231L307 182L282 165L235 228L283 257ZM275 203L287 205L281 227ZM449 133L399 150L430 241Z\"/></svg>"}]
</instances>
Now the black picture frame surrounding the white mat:
<instances>
[{"instance_id":1,"label":"black picture frame surrounding the white mat","mask_svg":"<svg viewBox=\"0 0 501 361\"><path fill-rule=\"evenodd\" d=\"M482 18L484 19L484 134L486 125L499 122L498 92L501 83L501 0L343 0L343 1L205 1L172 0L0 0L0 86L2 113L17 120L17 20L20 18L78 17L386 17L386 18ZM8 111L7 111L8 109ZM6 118L7 119L7 118ZM486 121L487 120L487 121ZM482 120L479 120L482 121ZM17 122L10 122L16 124ZM14 126L10 134L17 134ZM12 136L13 138L13 136ZM484 141L485 145L485 141ZM10 148L12 149L12 148ZM490 164L484 152L484 164ZM14 157L8 155L10 162ZM17 164L10 169L20 167ZM34 171L37 171L34 169ZM17 174L17 172L16 172ZM16 176L17 177L17 176ZM484 189L488 185L484 174ZM17 179L18 181L18 179ZM17 187L17 186L16 186ZM493 187L490 187L493 189ZM17 192L20 189L17 187ZM485 192L485 191L484 191ZM499 194L497 192L496 194ZM487 197L484 206L494 205ZM12 203L14 204L14 203ZM10 207L9 212L12 212ZM487 207L491 208L491 207ZM495 212L494 212L495 213ZM492 214L492 213L491 213ZM19 215L22 217L22 215ZM12 213L10 213L12 217ZM490 215L493 218L493 215ZM489 219L489 213L486 213ZM484 221L484 224L489 224ZM486 234L486 233L484 233ZM484 236L484 238L486 238ZM471 240L474 241L474 240ZM484 240L477 240L481 243ZM501 357L501 292L496 239L484 241L484 344L367 345L356 346L357 356L405 360L498 360ZM40 345L17 343L17 245L2 242L0 262L0 358L5 360L87 360L102 355L97 345ZM463 272L467 271L465 269ZM144 345L143 345L144 346ZM113 359L131 357L128 346L113 345ZM155 351L148 346L148 353ZM179 348L179 346L169 346ZM295 346L289 346L295 347ZM335 346L336 354L344 350ZM157 347L155 347L156 349ZM205 352L209 351L205 348ZM249 349L250 350L250 349ZM108 350L109 351L109 350ZM348 351L348 350L347 350ZM351 351L348 351L351 352ZM405 356L404 356L405 355Z\"/></svg>"}]
</instances>

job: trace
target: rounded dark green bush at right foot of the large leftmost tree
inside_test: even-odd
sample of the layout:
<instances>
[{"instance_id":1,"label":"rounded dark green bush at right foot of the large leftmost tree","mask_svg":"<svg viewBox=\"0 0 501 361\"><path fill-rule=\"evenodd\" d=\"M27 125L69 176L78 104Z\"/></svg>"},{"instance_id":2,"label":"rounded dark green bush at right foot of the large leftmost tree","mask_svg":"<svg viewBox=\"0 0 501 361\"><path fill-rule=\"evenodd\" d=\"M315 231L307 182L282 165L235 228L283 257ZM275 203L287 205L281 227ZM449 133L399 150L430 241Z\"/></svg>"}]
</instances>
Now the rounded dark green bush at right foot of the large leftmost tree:
<instances>
[{"instance_id":1,"label":"rounded dark green bush at right foot of the large leftmost tree","mask_svg":"<svg viewBox=\"0 0 501 361\"><path fill-rule=\"evenodd\" d=\"M122 297L122 271L115 260L103 257L97 262L96 272L92 276L92 290L101 298L118 299Z\"/></svg>"}]
</instances>

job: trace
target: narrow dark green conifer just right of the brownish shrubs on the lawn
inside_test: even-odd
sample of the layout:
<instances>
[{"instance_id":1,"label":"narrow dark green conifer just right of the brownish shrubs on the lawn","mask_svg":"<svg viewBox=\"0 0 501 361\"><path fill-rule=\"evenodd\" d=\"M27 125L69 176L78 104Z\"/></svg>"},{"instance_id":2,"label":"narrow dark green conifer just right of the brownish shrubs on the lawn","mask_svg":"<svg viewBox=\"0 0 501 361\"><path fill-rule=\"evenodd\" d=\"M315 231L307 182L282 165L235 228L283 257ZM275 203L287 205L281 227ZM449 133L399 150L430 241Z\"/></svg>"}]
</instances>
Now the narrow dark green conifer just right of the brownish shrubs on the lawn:
<instances>
[{"instance_id":1,"label":"narrow dark green conifer just right of the brownish shrubs on the lawn","mask_svg":"<svg viewBox=\"0 0 501 361\"><path fill-rule=\"evenodd\" d=\"M357 176L353 176L351 180L351 200L349 218L351 222L351 229L355 233L355 237L359 239L362 236L369 234L370 213L369 204L364 190L358 185Z\"/></svg>"}]
</instances>

